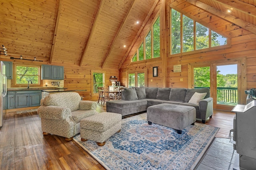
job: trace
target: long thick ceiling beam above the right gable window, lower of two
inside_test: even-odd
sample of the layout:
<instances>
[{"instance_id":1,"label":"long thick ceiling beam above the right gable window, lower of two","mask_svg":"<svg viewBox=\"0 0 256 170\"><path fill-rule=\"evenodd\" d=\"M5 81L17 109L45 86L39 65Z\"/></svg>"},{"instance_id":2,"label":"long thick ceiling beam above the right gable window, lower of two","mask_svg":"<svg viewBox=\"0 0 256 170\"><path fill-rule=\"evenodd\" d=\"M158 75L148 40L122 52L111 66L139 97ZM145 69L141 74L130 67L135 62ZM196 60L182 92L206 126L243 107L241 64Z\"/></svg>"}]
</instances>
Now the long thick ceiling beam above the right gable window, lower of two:
<instances>
[{"instance_id":1,"label":"long thick ceiling beam above the right gable window, lower of two","mask_svg":"<svg viewBox=\"0 0 256 170\"><path fill-rule=\"evenodd\" d=\"M239 27L246 29L247 31L256 33L256 25L253 25L252 23L246 22L240 18L236 18L235 16L227 14L227 12L222 12L221 10L218 10L212 6L204 4L204 3L200 2L199 0L186 0L186 1L189 2L190 4L197 6L198 8L201 8L202 10L205 10L213 15L216 15L216 16L222 18L223 20L234 23L234 24L238 25Z\"/></svg>"}]
</instances>

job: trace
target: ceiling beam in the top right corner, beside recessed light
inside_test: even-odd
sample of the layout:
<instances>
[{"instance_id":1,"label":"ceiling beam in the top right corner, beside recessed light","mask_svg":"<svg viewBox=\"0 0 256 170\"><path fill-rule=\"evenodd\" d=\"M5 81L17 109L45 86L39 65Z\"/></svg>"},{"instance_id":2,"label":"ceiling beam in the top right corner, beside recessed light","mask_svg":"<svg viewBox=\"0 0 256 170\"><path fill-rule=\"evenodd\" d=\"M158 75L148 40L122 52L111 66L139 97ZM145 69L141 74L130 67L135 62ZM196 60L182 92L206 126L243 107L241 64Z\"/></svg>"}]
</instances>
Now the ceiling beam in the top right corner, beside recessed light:
<instances>
[{"instance_id":1,"label":"ceiling beam in the top right corner, beside recessed light","mask_svg":"<svg viewBox=\"0 0 256 170\"><path fill-rule=\"evenodd\" d=\"M224 6L228 6L230 10L234 8L244 14L248 14L250 16L256 17L256 8L254 5L247 4L240 0L212 0L218 4L222 4Z\"/></svg>"}]
</instances>

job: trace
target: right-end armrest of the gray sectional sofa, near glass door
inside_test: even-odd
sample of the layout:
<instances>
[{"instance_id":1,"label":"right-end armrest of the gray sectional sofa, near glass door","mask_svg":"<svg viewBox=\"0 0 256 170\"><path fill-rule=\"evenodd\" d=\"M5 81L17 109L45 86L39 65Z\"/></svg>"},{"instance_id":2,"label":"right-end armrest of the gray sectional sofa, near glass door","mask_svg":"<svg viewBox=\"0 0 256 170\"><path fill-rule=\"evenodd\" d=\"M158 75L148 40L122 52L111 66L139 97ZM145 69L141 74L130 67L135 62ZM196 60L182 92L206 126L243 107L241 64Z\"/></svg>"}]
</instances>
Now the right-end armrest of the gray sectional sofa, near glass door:
<instances>
[{"instance_id":1,"label":"right-end armrest of the gray sectional sofa, near glass door","mask_svg":"<svg viewBox=\"0 0 256 170\"><path fill-rule=\"evenodd\" d=\"M199 101L201 119L206 120L213 114L213 98L206 98Z\"/></svg>"}]
</instances>

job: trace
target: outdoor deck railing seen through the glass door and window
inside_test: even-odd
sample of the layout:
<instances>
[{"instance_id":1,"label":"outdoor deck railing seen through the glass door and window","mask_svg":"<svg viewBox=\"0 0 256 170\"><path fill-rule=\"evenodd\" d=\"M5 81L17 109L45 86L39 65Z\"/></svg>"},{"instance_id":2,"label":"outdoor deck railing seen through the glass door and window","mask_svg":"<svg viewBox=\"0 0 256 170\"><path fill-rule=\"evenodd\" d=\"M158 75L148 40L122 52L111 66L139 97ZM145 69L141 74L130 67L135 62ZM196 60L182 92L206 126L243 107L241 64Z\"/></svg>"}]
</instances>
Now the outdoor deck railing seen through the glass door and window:
<instances>
[{"instance_id":1,"label":"outdoor deck railing seen through the glass door and window","mask_svg":"<svg viewBox=\"0 0 256 170\"><path fill-rule=\"evenodd\" d=\"M210 88L210 87L195 87L195 88ZM217 87L217 102L237 104L238 91L237 88Z\"/></svg>"}]
</instances>

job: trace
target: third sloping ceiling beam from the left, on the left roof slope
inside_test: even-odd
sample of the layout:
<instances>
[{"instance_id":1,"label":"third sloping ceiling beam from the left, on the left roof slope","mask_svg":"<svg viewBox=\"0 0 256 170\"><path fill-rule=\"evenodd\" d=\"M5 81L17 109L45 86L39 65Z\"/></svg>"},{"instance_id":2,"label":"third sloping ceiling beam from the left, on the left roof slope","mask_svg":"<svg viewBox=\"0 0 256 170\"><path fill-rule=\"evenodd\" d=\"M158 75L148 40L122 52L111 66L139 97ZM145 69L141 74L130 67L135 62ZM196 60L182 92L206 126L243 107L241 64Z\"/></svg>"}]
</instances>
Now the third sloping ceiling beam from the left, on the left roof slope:
<instances>
[{"instance_id":1,"label":"third sloping ceiling beam from the left, on the left roof slope","mask_svg":"<svg viewBox=\"0 0 256 170\"><path fill-rule=\"evenodd\" d=\"M103 64L102 64L102 68L103 68L104 65L106 64L106 61L107 61L107 59L108 59L108 57L109 57L109 55L110 55L110 53L111 53L111 51L112 51L112 49L113 49L115 43L116 43L116 40L117 40L117 38L119 37L122 28L124 27L124 23L126 22L128 16L129 16L129 14L130 14L130 11L132 10L132 7L134 6L134 2L135 2L135 0L132 1L131 5L130 5L130 7L129 7L127 13L126 13L126 16L124 17L124 20L122 21L122 23L121 23L121 25L120 25L120 27L119 27L117 33L116 33L116 37L114 38L114 40L112 41L112 44L110 45L110 48L108 49L108 53L107 53L107 55L106 55L106 57L105 57L105 59L104 59L104 62L103 62Z\"/></svg>"}]
</instances>

